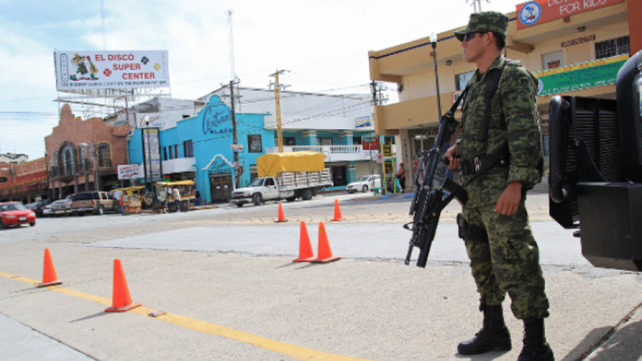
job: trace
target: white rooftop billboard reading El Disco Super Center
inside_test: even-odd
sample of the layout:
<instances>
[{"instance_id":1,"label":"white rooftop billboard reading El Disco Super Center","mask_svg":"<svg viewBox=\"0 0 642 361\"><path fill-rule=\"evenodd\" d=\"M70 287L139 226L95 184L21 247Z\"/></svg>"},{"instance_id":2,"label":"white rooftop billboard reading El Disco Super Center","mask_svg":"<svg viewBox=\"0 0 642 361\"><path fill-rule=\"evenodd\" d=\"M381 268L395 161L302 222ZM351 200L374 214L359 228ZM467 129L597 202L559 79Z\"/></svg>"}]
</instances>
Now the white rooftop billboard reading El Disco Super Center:
<instances>
[{"instance_id":1,"label":"white rooftop billboard reading El Disco Super Center","mask_svg":"<svg viewBox=\"0 0 642 361\"><path fill-rule=\"evenodd\" d=\"M168 88L168 52L56 51L58 91Z\"/></svg>"}]
</instances>

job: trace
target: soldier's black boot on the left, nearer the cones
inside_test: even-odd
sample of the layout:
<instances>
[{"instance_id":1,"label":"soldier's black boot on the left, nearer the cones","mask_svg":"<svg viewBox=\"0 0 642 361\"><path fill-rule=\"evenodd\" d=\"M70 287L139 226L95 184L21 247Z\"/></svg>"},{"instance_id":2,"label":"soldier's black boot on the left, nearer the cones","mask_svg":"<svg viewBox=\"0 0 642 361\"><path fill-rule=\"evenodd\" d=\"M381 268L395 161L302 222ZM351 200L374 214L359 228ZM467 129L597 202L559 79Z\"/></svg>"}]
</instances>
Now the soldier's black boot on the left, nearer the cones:
<instances>
[{"instance_id":1,"label":"soldier's black boot on the left, nearer the cones","mask_svg":"<svg viewBox=\"0 0 642 361\"><path fill-rule=\"evenodd\" d=\"M470 340L457 345L459 355L479 355L489 351L510 351L511 334L504 323L501 305L482 303L479 310L484 312L484 327Z\"/></svg>"}]
</instances>

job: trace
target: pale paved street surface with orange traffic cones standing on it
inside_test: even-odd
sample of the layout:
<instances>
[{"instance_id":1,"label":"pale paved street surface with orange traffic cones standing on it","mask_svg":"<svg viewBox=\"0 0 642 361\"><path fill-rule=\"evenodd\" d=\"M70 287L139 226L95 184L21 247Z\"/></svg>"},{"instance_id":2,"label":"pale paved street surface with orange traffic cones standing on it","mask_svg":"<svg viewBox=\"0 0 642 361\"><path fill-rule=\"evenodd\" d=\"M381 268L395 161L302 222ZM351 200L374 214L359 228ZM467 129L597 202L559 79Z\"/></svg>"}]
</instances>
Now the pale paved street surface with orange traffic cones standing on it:
<instances>
[{"instance_id":1,"label":"pale paved street surface with orange traffic cones standing on it","mask_svg":"<svg viewBox=\"0 0 642 361\"><path fill-rule=\"evenodd\" d=\"M403 265L409 198L355 198L365 195L283 203L287 223L275 223L278 205L266 203L44 218L0 231L0 360L459 360L457 342L479 330L481 315L454 225L458 205L444 210L422 269ZM330 221L335 199L345 221ZM640 275L586 262L579 240L548 217L544 191L531 192L527 208L557 360L641 360ZM292 263L300 220L315 253L324 222L342 259ZM30 285L41 280L44 248L59 288ZM103 312L114 258L143 304L131 312ZM508 304L514 350L472 360L516 359L521 322ZM156 310L168 315L148 317Z\"/></svg>"}]
</instances>

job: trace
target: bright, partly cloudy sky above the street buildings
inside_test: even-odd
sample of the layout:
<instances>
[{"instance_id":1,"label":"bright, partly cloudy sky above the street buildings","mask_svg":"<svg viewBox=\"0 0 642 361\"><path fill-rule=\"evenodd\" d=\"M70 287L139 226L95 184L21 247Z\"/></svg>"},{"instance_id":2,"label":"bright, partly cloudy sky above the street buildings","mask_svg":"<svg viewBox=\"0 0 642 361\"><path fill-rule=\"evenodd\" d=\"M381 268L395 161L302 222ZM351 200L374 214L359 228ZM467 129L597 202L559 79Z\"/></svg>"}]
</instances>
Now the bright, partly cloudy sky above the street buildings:
<instances>
[{"instance_id":1,"label":"bright, partly cloudy sky above the street buildings","mask_svg":"<svg viewBox=\"0 0 642 361\"><path fill-rule=\"evenodd\" d=\"M481 7L507 13L522 2L481 0ZM288 91L370 93L368 51L463 27L473 11L466 0L103 0L103 6L104 28L100 0L0 0L0 153L44 156L44 137L58 124L56 49L167 50L171 95L195 99L230 81L226 10L233 9L240 86L267 88L269 75L286 69L280 82ZM395 98L396 88L388 88Z\"/></svg>"}]
</instances>

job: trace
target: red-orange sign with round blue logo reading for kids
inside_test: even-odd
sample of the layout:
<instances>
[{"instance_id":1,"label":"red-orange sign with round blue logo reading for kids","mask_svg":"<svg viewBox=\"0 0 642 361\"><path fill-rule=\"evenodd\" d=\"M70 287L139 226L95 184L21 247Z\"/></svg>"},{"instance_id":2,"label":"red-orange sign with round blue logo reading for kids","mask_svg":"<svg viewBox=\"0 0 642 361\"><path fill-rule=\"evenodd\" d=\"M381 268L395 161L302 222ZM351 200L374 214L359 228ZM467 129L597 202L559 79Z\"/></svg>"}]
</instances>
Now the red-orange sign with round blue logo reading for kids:
<instances>
[{"instance_id":1,"label":"red-orange sign with round blue logo reading for kids","mask_svg":"<svg viewBox=\"0 0 642 361\"><path fill-rule=\"evenodd\" d=\"M624 0L534 0L517 5L517 29L562 19Z\"/></svg>"}]
</instances>

